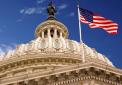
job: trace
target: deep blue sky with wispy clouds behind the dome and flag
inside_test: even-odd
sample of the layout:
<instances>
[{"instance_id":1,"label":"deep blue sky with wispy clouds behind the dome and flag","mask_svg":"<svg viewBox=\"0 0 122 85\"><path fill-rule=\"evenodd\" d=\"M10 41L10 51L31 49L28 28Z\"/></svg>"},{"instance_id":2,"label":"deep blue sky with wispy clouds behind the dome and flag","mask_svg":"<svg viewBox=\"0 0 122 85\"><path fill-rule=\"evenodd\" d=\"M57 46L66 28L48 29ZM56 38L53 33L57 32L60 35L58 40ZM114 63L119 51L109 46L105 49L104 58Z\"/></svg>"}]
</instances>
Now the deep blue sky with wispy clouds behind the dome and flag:
<instances>
[{"instance_id":1,"label":"deep blue sky with wispy clouds behind the dome and flag","mask_svg":"<svg viewBox=\"0 0 122 85\"><path fill-rule=\"evenodd\" d=\"M47 18L46 7L50 0L0 0L0 52L13 49L17 44L35 38L36 26ZM79 42L77 0L52 0L56 17L69 30L69 38ZM80 7L99 13L119 24L117 35L102 29L89 29L82 24L83 42L107 56L115 66L122 68L122 1L80 0Z\"/></svg>"}]
</instances>

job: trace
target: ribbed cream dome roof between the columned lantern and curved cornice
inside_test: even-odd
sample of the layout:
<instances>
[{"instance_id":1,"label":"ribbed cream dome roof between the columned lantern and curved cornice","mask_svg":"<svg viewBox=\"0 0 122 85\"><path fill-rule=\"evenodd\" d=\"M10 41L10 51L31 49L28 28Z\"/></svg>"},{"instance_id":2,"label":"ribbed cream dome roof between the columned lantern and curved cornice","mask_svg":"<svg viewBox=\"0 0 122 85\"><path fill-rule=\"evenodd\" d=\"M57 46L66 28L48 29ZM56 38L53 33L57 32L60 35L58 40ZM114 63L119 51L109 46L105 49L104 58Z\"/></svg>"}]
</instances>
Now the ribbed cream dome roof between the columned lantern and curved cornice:
<instances>
[{"instance_id":1,"label":"ribbed cream dome roof between the columned lantern and curved cornice","mask_svg":"<svg viewBox=\"0 0 122 85\"><path fill-rule=\"evenodd\" d=\"M104 55L96 52L94 49L85 44L65 38L40 38L30 41L27 44L17 46L15 50L9 51L2 61L14 58L18 61L21 57L31 56L31 58L56 58L69 59L73 62L82 63L82 46L84 48L84 56L86 62L96 62L113 66L111 61ZM15 61L14 61L15 62Z\"/></svg>"}]
</instances>

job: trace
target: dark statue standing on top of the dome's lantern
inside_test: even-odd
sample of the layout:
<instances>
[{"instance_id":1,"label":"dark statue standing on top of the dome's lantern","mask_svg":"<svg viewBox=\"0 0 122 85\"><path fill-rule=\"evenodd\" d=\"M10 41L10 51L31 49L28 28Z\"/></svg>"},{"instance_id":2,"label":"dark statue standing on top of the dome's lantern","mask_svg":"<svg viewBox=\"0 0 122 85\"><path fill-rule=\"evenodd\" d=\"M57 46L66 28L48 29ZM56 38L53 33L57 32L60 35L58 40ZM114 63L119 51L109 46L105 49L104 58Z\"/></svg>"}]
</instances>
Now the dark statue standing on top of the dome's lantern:
<instances>
[{"instance_id":1,"label":"dark statue standing on top of the dome's lantern","mask_svg":"<svg viewBox=\"0 0 122 85\"><path fill-rule=\"evenodd\" d=\"M55 6L53 5L52 1L48 4L47 13L49 15L48 19L54 19L56 9L55 9Z\"/></svg>"}]
</instances>

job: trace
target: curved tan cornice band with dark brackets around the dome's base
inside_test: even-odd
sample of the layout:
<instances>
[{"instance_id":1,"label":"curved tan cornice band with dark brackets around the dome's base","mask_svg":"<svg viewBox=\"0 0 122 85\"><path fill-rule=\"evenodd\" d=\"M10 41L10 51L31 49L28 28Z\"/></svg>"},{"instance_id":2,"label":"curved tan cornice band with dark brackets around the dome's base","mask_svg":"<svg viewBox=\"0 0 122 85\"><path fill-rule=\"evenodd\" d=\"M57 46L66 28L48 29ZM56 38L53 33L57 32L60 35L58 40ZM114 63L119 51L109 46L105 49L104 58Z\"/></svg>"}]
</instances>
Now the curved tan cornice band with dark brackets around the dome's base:
<instances>
[{"instance_id":1,"label":"curved tan cornice band with dark brackets around the dome's base","mask_svg":"<svg viewBox=\"0 0 122 85\"><path fill-rule=\"evenodd\" d=\"M1 73L5 73L11 70L18 70L19 68L23 68L23 67L31 67L34 66L35 67L37 65L73 65L73 64L78 64L80 63L80 60L75 60L75 59L69 59L69 58L55 58L55 57L48 57L48 58L34 58L34 59L27 59L27 60L20 60L17 62L9 62L8 64L4 64L2 66L0 66L0 74Z\"/></svg>"}]
</instances>

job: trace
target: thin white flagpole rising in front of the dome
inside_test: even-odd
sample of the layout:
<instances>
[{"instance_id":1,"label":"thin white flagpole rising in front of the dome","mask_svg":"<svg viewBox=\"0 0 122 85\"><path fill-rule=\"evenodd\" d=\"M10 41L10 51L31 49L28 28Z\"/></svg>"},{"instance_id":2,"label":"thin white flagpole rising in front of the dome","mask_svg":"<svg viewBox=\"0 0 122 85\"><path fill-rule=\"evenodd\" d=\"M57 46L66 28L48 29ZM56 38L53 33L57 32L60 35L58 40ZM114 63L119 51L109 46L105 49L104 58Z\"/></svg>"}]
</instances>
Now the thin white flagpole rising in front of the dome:
<instances>
[{"instance_id":1,"label":"thin white flagpole rising in front of the dome","mask_svg":"<svg viewBox=\"0 0 122 85\"><path fill-rule=\"evenodd\" d=\"M83 41L82 41L82 32L81 32L81 22L80 22L80 9L79 9L79 5L78 7L78 21L79 21L79 35L80 35L80 43L82 44L82 61L83 63L85 62L85 56L84 56L84 47L83 47Z\"/></svg>"}]
</instances>

